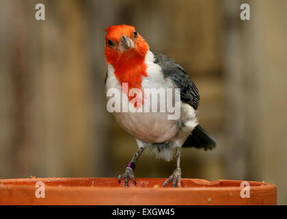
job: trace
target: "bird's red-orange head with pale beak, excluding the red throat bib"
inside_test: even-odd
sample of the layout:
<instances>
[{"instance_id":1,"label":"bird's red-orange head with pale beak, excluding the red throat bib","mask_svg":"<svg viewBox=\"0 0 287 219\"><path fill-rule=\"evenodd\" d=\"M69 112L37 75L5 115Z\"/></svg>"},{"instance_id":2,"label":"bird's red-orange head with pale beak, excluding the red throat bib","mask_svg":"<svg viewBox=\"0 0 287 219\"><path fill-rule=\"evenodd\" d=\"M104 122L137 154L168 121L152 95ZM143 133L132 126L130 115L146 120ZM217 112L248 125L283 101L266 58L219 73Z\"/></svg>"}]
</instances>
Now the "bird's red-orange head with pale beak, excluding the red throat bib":
<instances>
[{"instance_id":1,"label":"bird's red-orange head with pale beak, excluding the red throat bib","mask_svg":"<svg viewBox=\"0 0 287 219\"><path fill-rule=\"evenodd\" d=\"M111 26L105 38L105 56L107 63L115 66L126 60L132 63L143 59L149 50L148 43L130 25Z\"/></svg>"}]
</instances>

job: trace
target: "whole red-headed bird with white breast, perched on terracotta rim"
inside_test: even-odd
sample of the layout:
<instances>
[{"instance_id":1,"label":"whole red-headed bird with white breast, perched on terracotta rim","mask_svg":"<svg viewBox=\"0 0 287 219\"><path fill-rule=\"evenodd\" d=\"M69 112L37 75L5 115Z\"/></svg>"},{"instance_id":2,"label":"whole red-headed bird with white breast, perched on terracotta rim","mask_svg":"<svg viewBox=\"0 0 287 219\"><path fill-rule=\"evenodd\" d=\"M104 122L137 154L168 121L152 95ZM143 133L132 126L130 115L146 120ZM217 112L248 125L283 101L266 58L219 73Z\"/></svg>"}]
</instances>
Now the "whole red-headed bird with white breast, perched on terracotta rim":
<instances>
[{"instance_id":1,"label":"whole red-headed bird with white breast, perched on terracotta rim","mask_svg":"<svg viewBox=\"0 0 287 219\"><path fill-rule=\"evenodd\" d=\"M215 139L199 125L197 120L199 91L180 64L171 57L150 51L146 40L132 25L114 25L105 31L104 53L107 63L105 93L107 101L112 98L113 101L115 99L116 101L122 100L120 96L108 95L109 90L118 89L120 94L126 97L128 104L135 107L135 112L122 112L121 110L113 112L115 120L135 138L138 146L131 162L126 164L124 174L119 175L118 181L120 183L124 180L125 187L128 187L130 181L137 183L134 174L135 165L143 151L148 149L156 157L166 161L176 158L176 169L164 181L163 187L171 183L172 187L179 188L182 174L180 168L181 149L195 147L211 150L216 146ZM126 85L127 89L123 89L123 85ZM137 111L140 107L150 103L146 101L144 91L152 88L174 89L173 100L180 108L178 118L169 119L169 112L160 112L159 110L156 112ZM143 92L129 96L129 91L133 89ZM175 98L176 94L180 96L179 100ZM135 103L133 102L134 98L138 100Z\"/></svg>"}]
</instances>

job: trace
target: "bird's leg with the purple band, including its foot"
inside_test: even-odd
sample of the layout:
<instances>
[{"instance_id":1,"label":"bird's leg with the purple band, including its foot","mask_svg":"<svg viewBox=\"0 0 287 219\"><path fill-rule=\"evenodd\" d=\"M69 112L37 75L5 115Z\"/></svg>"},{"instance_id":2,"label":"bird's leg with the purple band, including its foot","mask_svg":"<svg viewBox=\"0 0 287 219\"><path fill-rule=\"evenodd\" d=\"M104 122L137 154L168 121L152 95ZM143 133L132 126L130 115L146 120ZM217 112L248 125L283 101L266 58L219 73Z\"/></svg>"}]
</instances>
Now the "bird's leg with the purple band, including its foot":
<instances>
[{"instance_id":1,"label":"bird's leg with the purple band, including its foot","mask_svg":"<svg viewBox=\"0 0 287 219\"><path fill-rule=\"evenodd\" d=\"M133 174L133 170L135 170L135 164L137 163L137 159L141 156L141 153L143 153L144 147L139 148L139 150L133 155L133 158L131 159L131 162L128 162L126 164L126 171L124 174L119 175L119 183L121 179L124 179L124 186L128 187L128 180L133 179L135 183L137 183L137 180L135 179L135 175Z\"/></svg>"}]
</instances>

